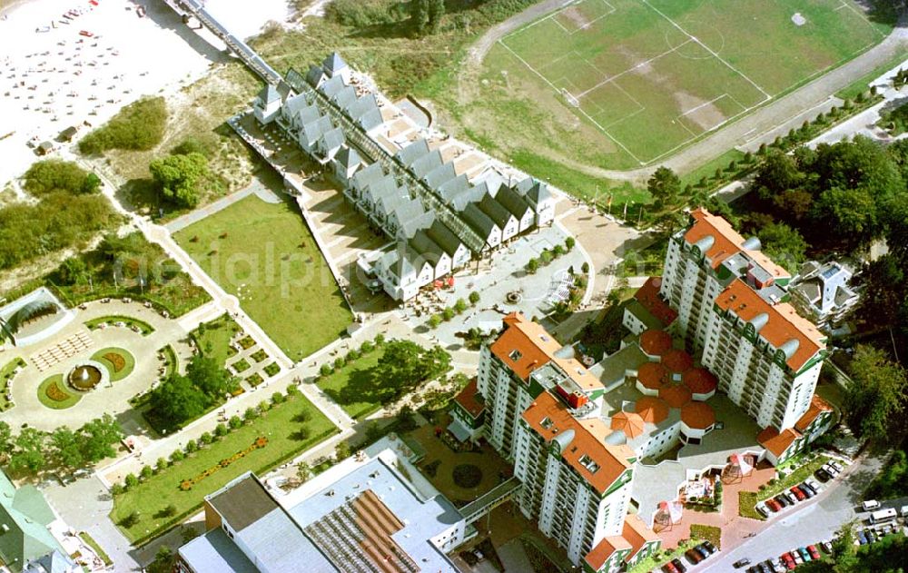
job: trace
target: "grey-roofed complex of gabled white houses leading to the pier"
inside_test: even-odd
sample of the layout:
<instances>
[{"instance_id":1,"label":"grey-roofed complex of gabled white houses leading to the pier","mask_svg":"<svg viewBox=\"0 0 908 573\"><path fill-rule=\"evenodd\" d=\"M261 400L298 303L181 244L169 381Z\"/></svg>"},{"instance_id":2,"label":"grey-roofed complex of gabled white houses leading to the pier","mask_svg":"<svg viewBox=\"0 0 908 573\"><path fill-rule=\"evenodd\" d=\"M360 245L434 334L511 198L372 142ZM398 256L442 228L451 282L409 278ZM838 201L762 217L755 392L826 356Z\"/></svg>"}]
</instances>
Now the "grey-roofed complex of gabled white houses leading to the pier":
<instances>
[{"instance_id":1,"label":"grey-roofed complex of gabled white houses leading to the pier","mask_svg":"<svg viewBox=\"0 0 908 573\"><path fill-rule=\"evenodd\" d=\"M392 298L406 301L470 258L554 219L545 183L493 175L473 184L424 139L385 152L370 134L384 122L379 102L351 84L340 55L304 78L289 73L288 82L262 90L253 112L328 166L348 201L395 243L371 269Z\"/></svg>"}]
</instances>

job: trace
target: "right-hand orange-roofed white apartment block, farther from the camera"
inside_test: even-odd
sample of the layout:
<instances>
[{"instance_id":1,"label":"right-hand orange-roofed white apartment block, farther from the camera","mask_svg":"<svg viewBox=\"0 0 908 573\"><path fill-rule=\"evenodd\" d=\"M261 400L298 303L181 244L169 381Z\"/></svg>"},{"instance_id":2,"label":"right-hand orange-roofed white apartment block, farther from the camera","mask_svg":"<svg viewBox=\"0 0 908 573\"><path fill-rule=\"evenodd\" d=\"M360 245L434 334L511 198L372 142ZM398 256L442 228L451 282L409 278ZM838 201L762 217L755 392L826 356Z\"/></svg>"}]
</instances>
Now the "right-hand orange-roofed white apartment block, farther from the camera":
<instances>
[{"instance_id":1,"label":"right-hand orange-roofed white apartment block, farther from the camera","mask_svg":"<svg viewBox=\"0 0 908 573\"><path fill-rule=\"evenodd\" d=\"M795 429L814 400L824 334L785 302L791 274L760 252L758 239L745 240L704 209L690 216L668 243L660 298L677 311L673 329L702 352L719 390L775 431L777 453L767 457L781 461L825 430Z\"/></svg>"}]
</instances>

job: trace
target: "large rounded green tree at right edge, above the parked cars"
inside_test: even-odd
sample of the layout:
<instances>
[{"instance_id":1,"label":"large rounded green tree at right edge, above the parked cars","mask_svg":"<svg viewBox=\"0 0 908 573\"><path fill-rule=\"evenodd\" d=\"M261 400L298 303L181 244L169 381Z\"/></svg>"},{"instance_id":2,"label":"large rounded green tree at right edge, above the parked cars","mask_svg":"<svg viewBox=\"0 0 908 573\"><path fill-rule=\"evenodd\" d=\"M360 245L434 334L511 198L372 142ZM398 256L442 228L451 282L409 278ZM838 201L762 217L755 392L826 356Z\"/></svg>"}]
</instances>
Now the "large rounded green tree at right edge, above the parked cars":
<instances>
[{"instance_id":1,"label":"large rounded green tree at right edge, above the parked cars","mask_svg":"<svg viewBox=\"0 0 908 573\"><path fill-rule=\"evenodd\" d=\"M844 391L845 419L864 440L888 440L903 431L900 414L908 400L908 380L899 364L883 351L858 345L850 369L852 383Z\"/></svg>"}]
</instances>

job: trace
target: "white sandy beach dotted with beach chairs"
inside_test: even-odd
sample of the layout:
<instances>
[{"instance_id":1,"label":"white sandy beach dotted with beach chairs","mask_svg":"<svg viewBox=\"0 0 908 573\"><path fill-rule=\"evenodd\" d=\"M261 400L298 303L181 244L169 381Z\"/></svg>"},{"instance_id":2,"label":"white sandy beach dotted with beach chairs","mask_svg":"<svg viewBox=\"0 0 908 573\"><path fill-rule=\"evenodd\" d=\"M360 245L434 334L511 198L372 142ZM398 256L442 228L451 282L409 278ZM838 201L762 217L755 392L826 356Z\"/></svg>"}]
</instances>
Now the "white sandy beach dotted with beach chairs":
<instances>
[{"instance_id":1,"label":"white sandy beach dotted with beach chairs","mask_svg":"<svg viewBox=\"0 0 908 573\"><path fill-rule=\"evenodd\" d=\"M137 6L146 7L140 17ZM158 0L41 0L5 6L0 19L0 188L38 159L29 142L104 123L149 94L173 94L231 57ZM248 37L288 15L286 0L210 0L212 14ZM65 147L56 153L63 152Z\"/></svg>"}]
</instances>

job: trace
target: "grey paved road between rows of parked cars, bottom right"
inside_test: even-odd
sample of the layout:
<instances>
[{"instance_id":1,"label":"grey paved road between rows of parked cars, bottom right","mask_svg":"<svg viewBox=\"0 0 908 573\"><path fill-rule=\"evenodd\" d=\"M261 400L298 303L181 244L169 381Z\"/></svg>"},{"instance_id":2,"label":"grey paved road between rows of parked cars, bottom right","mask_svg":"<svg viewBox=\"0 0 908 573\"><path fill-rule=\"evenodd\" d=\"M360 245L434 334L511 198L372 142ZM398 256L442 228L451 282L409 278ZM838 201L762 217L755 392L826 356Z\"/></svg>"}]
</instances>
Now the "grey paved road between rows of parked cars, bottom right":
<instances>
[{"instance_id":1,"label":"grey paved road between rows of parked cars, bottom right","mask_svg":"<svg viewBox=\"0 0 908 573\"><path fill-rule=\"evenodd\" d=\"M796 510L776 514L755 537L732 540L730 550L723 550L715 561L694 570L718 573L734 570L732 564L740 558L749 558L754 563L778 558L793 548L832 538L843 523L852 519L866 519L868 514L861 509L862 493L883 467L887 455L862 455L844 469L842 476L827 482L814 499L802 502Z\"/></svg>"}]
</instances>

